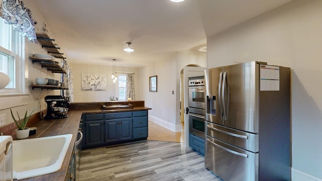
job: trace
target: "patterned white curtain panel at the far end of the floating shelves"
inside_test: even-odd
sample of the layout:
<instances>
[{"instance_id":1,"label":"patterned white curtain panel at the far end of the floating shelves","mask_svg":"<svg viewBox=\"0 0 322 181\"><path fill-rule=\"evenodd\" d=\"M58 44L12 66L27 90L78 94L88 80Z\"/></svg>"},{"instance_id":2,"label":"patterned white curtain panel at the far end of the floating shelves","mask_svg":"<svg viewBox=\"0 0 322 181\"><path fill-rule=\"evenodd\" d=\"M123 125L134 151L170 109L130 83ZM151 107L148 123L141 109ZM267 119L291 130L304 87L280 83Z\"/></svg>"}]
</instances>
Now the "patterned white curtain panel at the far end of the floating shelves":
<instances>
[{"instance_id":1,"label":"patterned white curtain panel at the far end of the floating shelves","mask_svg":"<svg viewBox=\"0 0 322 181\"><path fill-rule=\"evenodd\" d=\"M70 102L74 102L74 87L73 87L73 80L72 80L72 70L69 66L68 62L63 59L63 69L65 70L65 74L63 74L63 81L65 83L65 87L68 89L65 91L65 97L69 97Z\"/></svg>"}]
</instances>

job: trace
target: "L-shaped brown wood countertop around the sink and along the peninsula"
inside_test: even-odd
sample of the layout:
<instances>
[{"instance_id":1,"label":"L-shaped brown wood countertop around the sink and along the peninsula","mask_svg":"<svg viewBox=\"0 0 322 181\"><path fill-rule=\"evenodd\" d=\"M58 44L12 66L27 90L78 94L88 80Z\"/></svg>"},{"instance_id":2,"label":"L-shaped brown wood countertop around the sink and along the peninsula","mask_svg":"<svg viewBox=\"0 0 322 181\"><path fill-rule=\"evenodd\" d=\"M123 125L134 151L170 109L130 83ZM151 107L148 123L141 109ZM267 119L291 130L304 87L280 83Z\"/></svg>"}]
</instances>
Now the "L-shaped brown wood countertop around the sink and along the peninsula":
<instances>
[{"instance_id":1,"label":"L-shaped brown wood countertop around the sink and along the peninsula","mask_svg":"<svg viewBox=\"0 0 322 181\"><path fill-rule=\"evenodd\" d=\"M142 104L143 102L143 104ZM105 110L101 109L103 104L111 106L111 105L133 105L132 109L115 109L115 110ZM100 113L120 113L120 112L128 112L128 111L147 111L151 108L144 106L144 101L131 101L131 102L105 102L105 103L71 103L70 111L68 111L67 118L61 119L51 119L51 120L39 120L34 125L30 127L37 127L36 134L29 136L28 138L39 138L39 137L47 137L47 136L57 136L63 134L72 134L72 139L68 147L68 151L66 153L65 159L63 161L62 167L60 170L35 176L31 178L21 179L25 181L36 181L36 180L57 180L62 181L65 180L67 171L69 169L69 161L73 154L73 147L76 140L76 136L79 129L79 122L81 121L83 114L100 114ZM83 138L84 139L84 138Z\"/></svg>"}]
</instances>

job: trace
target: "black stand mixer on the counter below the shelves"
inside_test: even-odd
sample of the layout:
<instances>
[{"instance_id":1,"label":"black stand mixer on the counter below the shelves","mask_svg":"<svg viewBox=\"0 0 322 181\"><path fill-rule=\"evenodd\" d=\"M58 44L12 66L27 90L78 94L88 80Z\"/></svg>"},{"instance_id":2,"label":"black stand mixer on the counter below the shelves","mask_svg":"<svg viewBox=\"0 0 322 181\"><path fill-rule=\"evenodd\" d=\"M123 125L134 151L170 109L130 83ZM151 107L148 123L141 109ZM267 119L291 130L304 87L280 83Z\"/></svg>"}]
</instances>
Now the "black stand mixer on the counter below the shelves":
<instances>
[{"instance_id":1,"label":"black stand mixer on the counter below the shelves","mask_svg":"<svg viewBox=\"0 0 322 181\"><path fill-rule=\"evenodd\" d=\"M57 119L68 117L67 112L70 108L69 97L46 96L47 114L45 119Z\"/></svg>"}]
</instances>

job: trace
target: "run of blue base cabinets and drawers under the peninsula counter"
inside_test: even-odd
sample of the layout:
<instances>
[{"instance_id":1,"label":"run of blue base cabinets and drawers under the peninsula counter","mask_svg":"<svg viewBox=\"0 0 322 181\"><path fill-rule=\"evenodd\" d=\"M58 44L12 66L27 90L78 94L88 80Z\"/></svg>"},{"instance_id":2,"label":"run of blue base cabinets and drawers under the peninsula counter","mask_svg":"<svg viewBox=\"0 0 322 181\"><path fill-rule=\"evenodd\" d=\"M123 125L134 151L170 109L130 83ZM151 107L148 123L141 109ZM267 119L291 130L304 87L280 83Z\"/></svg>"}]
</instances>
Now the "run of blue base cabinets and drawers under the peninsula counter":
<instances>
[{"instance_id":1,"label":"run of blue base cabinets and drawers under the peninsula counter","mask_svg":"<svg viewBox=\"0 0 322 181\"><path fill-rule=\"evenodd\" d=\"M84 148L118 144L148 137L147 111L83 114Z\"/></svg>"}]
</instances>

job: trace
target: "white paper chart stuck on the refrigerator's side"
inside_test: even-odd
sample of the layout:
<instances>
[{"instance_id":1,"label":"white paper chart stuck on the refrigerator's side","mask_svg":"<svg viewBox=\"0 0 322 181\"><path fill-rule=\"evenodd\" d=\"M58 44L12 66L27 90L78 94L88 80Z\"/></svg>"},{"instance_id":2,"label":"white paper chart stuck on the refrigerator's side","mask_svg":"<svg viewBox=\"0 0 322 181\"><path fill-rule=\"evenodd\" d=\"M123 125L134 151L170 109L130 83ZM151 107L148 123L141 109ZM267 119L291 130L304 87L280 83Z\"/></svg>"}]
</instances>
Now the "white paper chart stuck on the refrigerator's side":
<instances>
[{"instance_id":1,"label":"white paper chart stuck on the refrigerator's side","mask_svg":"<svg viewBox=\"0 0 322 181\"><path fill-rule=\"evenodd\" d=\"M261 65L261 91L280 90L280 67L271 65Z\"/></svg>"}]
</instances>

